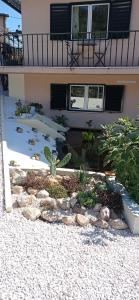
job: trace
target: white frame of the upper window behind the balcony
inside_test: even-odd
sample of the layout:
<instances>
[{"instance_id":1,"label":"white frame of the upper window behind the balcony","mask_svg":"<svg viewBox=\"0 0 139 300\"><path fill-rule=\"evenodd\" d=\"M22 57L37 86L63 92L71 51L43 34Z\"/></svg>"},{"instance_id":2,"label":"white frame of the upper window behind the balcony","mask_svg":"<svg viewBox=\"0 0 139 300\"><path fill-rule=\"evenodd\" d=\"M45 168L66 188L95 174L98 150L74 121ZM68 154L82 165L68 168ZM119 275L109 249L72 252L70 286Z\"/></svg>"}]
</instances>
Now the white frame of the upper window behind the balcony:
<instances>
[{"instance_id":1,"label":"white frame of the upper window behind the balcony","mask_svg":"<svg viewBox=\"0 0 139 300\"><path fill-rule=\"evenodd\" d=\"M88 7L88 20L87 20L87 38L90 39L90 36L92 38L92 7L93 6L108 6L108 18L107 18L107 34L106 39L108 38L108 29L109 29L109 17L110 17L110 3L94 3L94 4L75 4L72 5L72 13L71 13L71 39L73 38L73 32L72 32L72 24L73 24L73 8L74 7L81 7L81 6L87 6ZM96 38L97 39L97 38ZM104 39L104 38L102 38Z\"/></svg>"}]
</instances>

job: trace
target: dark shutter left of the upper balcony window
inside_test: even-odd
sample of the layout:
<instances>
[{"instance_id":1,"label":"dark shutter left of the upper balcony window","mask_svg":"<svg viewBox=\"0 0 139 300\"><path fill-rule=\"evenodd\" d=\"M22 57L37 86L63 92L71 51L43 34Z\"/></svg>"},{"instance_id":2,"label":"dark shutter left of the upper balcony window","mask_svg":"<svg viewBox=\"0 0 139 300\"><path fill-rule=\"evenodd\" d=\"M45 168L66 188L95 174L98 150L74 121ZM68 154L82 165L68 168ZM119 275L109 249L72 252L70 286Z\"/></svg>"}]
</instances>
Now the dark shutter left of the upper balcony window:
<instances>
[{"instance_id":1,"label":"dark shutter left of the upper balcony window","mask_svg":"<svg viewBox=\"0 0 139 300\"><path fill-rule=\"evenodd\" d=\"M51 40L66 40L71 38L70 4L50 5L50 32Z\"/></svg>"}]
</instances>

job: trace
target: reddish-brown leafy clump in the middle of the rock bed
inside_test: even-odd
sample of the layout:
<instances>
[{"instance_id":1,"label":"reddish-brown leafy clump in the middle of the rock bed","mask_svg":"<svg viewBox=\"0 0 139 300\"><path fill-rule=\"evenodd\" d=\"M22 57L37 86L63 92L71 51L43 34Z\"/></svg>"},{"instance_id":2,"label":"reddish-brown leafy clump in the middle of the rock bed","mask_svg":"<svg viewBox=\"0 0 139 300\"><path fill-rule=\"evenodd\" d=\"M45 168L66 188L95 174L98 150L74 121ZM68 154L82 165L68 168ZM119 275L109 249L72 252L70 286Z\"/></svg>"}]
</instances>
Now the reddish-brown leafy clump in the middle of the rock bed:
<instances>
[{"instance_id":1,"label":"reddish-brown leafy clump in the middle of the rock bed","mask_svg":"<svg viewBox=\"0 0 139 300\"><path fill-rule=\"evenodd\" d=\"M64 188L67 190L69 195L71 195L73 192L80 191L81 185L77 177L72 176L70 178L63 177L61 184L64 186Z\"/></svg>"}]
</instances>

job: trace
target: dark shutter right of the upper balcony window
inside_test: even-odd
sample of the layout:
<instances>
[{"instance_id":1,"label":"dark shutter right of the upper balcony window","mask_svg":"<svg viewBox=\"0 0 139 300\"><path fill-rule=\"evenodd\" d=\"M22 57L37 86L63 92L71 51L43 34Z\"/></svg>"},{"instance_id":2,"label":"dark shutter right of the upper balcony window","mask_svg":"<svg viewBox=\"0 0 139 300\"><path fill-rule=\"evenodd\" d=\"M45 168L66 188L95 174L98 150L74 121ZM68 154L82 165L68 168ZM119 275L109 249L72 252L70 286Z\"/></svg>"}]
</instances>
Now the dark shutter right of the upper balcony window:
<instances>
[{"instance_id":1,"label":"dark shutter right of the upper balcony window","mask_svg":"<svg viewBox=\"0 0 139 300\"><path fill-rule=\"evenodd\" d=\"M109 38L128 38L132 0L112 0L110 4ZM119 31L114 33L112 31Z\"/></svg>"}]
</instances>

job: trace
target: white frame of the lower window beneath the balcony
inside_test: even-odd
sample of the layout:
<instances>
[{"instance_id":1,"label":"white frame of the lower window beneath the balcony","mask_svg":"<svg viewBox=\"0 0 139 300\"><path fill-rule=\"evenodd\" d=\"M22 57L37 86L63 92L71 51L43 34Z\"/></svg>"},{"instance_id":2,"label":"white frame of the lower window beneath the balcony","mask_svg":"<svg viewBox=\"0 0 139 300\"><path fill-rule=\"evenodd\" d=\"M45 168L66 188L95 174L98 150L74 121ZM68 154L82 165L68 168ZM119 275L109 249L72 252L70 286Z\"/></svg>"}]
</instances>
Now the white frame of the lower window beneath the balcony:
<instances>
[{"instance_id":1,"label":"white frame of the lower window beneath the balcony","mask_svg":"<svg viewBox=\"0 0 139 300\"><path fill-rule=\"evenodd\" d=\"M71 88L72 87L84 87L85 93L84 93L84 105L83 109L75 109L74 107L71 107ZM89 102L89 97L88 97L88 92L89 92L89 87L103 87L103 107L102 110L91 110L88 109L88 102ZM70 111L86 111L86 112L103 112L104 111L104 99L105 99L105 86L103 84L71 84L70 85L70 96L69 96L69 110Z\"/></svg>"}]
</instances>

